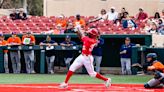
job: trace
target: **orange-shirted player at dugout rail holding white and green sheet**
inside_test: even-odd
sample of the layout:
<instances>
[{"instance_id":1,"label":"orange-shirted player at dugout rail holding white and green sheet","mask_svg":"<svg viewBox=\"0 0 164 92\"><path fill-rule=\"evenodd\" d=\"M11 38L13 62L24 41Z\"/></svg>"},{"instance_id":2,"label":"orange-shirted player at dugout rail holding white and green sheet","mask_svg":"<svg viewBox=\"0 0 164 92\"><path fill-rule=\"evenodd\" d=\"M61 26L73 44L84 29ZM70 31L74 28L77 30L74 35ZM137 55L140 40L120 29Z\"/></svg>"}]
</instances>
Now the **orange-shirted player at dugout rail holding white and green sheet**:
<instances>
[{"instance_id":1,"label":"orange-shirted player at dugout rail holding white and green sheet","mask_svg":"<svg viewBox=\"0 0 164 92\"><path fill-rule=\"evenodd\" d=\"M26 46L35 45L35 37L31 34L31 32L27 32L22 36L22 44ZM24 59L26 64L26 72L27 73L35 73L34 70L34 50L25 50Z\"/></svg>"}]
</instances>

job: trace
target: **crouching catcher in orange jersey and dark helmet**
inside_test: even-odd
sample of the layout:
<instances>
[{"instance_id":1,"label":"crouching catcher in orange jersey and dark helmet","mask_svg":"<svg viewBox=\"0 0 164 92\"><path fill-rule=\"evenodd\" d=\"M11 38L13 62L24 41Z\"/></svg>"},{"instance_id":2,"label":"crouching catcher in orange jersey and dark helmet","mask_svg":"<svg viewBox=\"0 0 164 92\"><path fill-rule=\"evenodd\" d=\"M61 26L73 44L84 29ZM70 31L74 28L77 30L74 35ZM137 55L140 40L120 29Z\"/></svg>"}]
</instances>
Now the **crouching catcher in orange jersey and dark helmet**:
<instances>
[{"instance_id":1,"label":"crouching catcher in orange jersey and dark helmet","mask_svg":"<svg viewBox=\"0 0 164 92\"><path fill-rule=\"evenodd\" d=\"M164 84L164 65L157 60L157 54L156 53L149 53L146 56L147 62L150 64L147 64L146 67L149 71L154 71L155 76L151 80L149 80L146 84L144 84L145 88L155 88L158 87L160 84Z\"/></svg>"}]
</instances>

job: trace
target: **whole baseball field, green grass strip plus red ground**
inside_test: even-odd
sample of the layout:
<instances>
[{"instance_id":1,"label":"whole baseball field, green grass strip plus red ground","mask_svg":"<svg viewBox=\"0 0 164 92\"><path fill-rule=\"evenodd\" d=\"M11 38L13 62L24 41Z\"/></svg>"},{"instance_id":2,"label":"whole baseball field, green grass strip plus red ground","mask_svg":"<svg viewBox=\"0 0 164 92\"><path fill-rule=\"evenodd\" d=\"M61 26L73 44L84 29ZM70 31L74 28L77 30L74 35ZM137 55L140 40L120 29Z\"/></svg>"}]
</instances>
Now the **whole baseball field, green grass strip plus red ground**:
<instances>
[{"instance_id":1,"label":"whole baseball field, green grass strip plus red ground","mask_svg":"<svg viewBox=\"0 0 164 92\"><path fill-rule=\"evenodd\" d=\"M58 88L65 74L0 74L0 92L164 92L163 88L145 89L143 84L151 75L105 75L112 86L88 75L75 74L66 89Z\"/></svg>"}]
</instances>

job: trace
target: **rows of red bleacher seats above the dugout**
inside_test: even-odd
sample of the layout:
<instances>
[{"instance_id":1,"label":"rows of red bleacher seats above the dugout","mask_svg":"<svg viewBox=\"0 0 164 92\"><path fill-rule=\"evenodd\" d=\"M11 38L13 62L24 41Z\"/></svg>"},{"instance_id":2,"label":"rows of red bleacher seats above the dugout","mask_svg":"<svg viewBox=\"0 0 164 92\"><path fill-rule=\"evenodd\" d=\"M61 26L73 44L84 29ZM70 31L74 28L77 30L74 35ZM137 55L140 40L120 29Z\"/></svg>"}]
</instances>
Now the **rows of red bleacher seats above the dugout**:
<instances>
[{"instance_id":1,"label":"rows of red bleacher seats above the dugout","mask_svg":"<svg viewBox=\"0 0 164 92\"><path fill-rule=\"evenodd\" d=\"M31 16L27 20L11 20L7 16L0 18L0 31L4 34L10 34L11 32L25 33L27 30L31 30L35 34L48 31L50 28L55 29L57 17L51 16ZM85 21L93 19L94 16L82 16ZM65 17L67 21L73 21L74 16ZM87 27L97 26L102 34L145 34L143 28L145 27L145 21L135 21L138 27L136 29L123 28L122 25L117 26L113 21L97 21L87 25ZM86 28L87 28L86 27Z\"/></svg>"}]
</instances>

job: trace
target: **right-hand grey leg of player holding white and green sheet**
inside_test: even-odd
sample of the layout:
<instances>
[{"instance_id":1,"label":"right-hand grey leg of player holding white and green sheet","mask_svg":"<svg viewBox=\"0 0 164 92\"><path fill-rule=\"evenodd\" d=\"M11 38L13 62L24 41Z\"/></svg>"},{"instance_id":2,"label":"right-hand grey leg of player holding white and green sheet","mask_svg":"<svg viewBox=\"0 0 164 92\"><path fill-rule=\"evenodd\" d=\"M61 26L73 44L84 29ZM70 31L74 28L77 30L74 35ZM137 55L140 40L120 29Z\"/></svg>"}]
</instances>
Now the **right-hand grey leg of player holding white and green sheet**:
<instances>
[{"instance_id":1,"label":"right-hand grey leg of player holding white and green sheet","mask_svg":"<svg viewBox=\"0 0 164 92\"><path fill-rule=\"evenodd\" d=\"M29 57L30 57L30 71L31 71L31 73L35 73L35 70L34 70L34 66L35 66L34 50L29 51Z\"/></svg>"}]
</instances>

